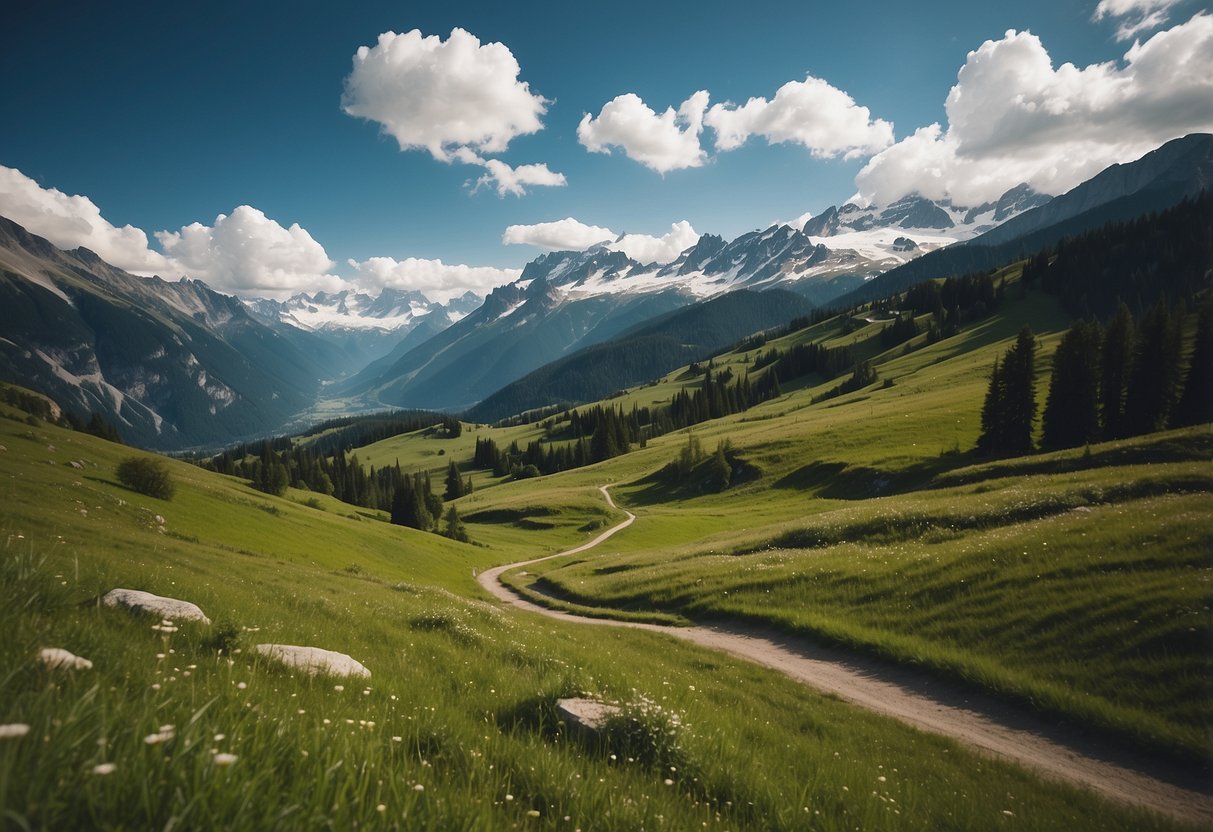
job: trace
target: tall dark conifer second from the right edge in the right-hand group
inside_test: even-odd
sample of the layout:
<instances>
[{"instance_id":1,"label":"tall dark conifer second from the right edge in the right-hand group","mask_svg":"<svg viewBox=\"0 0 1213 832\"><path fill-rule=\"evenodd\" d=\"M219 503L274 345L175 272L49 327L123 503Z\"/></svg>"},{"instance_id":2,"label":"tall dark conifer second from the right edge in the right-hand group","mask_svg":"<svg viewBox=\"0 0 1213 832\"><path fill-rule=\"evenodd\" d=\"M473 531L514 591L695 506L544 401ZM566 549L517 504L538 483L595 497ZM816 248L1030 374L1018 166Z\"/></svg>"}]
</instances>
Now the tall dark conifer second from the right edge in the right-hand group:
<instances>
[{"instance_id":1,"label":"tall dark conifer second from the right edge in the right-hand group","mask_svg":"<svg viewBox=\"0 0 1213 832\"><path fill-rule=\"evenodd\" d=\"M1160 301L1141 321L1133 352L1124 399L1124 426L1129 435L1161 431L1175 403L1179 388L1179 326L1166 303Z\"/></svg>"}]
</instances>

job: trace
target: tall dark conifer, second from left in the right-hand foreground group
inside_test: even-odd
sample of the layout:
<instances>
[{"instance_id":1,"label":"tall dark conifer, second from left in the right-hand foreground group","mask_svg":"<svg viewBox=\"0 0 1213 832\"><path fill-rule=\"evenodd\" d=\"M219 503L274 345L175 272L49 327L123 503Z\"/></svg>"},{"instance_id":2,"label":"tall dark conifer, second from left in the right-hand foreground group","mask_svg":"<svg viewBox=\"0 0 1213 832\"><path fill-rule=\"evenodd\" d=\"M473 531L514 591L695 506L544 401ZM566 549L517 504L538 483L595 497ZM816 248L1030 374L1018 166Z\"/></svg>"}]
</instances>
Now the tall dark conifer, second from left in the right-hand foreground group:
<instances>
[{"instance_id":1,"label":"tall dark conifer, second from left in the right-hand foreground group","mask_svg":"<svg viewBox=\"0 0 1213 832\"><path fill-rule=\"evenodd\" d=\"M1075 321L1053 354L1041 446L1076 448L1099 432L1099 325Z\"/></svg>"}]
</instances>

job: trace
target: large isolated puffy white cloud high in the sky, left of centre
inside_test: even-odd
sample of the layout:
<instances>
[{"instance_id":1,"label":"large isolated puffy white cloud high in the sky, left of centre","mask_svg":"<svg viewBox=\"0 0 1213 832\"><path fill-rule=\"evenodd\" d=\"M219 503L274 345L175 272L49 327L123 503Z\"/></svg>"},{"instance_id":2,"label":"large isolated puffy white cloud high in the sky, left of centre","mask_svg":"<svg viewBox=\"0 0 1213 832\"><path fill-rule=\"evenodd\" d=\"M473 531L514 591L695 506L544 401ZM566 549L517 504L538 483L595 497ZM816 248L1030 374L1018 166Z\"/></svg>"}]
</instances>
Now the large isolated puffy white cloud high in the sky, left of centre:
<instances>
[{"instance_id":1,"label":"large isolated puffy white cloud high in the sky, left of centre","mask_svg":"<svg viewBox=\"0 0 1213 832\"><path fill-rule=\"evenodd\" d=\"M443 161L456 147L501 153L543 127L549 103L519 72L505 44L482 44L463 29L445 41L417 29L385 32L375 46L358 47L342 109L377 121L402 150L426 149Z\"/></svg>"}]
</instances>

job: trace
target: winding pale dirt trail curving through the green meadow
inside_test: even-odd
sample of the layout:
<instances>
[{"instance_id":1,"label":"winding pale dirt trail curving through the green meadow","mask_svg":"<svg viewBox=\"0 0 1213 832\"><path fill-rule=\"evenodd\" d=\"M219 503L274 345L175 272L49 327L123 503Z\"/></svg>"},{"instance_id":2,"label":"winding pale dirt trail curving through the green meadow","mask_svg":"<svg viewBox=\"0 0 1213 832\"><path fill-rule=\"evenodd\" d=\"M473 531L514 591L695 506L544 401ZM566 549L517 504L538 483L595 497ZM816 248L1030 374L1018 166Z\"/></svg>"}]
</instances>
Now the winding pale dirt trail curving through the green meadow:
<instances>
[{"instance_id":1,"label":"winding pale dirt trail curving through the green meadow","mask_svg":"<svg viewBox=\"0 0 1213 832\"><path fill-rule=\"evenodd\" d=\"M606 491L599 490L611 508ZM552 610L519 597L501 583L501 574L576 554L632 525L636 515L588 543L542 558L488 569L478 576L492 595L519 609L598 627L630 627L666 633L705 648L779 671L860 707L941 734L991 757L1012 760L1046 777L1076 783L1099 794L1158 811L1181 821L1213 825L1213 783L1207 775L1169 760L1134 754L1115 741L1081 729L1059 726L1004 701L950 684L912 667L856 656L803 639L742 626L668 627L591 619Z\"/></svg>"}]
</instances>

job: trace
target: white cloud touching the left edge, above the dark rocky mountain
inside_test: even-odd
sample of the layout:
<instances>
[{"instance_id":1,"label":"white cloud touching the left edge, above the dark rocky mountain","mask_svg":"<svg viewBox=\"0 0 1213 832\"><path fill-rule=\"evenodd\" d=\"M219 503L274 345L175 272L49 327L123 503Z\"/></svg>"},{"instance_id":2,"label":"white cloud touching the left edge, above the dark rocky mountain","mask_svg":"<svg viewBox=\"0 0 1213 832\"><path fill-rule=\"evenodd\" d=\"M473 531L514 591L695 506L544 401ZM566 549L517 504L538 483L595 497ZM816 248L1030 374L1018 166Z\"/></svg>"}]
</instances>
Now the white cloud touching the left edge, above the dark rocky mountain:
<instances>
[{"instance_id":1,"label":"white cloud touching the left edge, above the dark rocky mountain","mask_svg":"<svg viewBox=\"0 0 1213 832\"><path fill-rule=\"evenodd\" d=\"M84 246L127 272L176 277L173 264L148 247L142 229L116 228L87 196L44 188L19 170L4 165L0 165L0 215L61 249Z\"/></svg>"}]
</instances>

